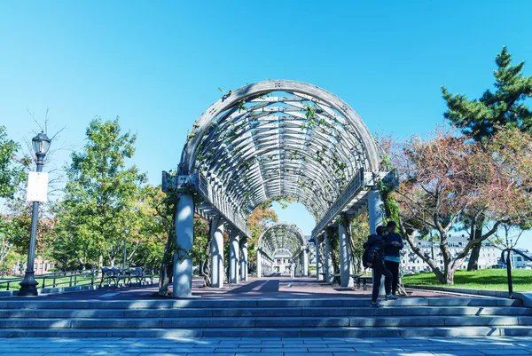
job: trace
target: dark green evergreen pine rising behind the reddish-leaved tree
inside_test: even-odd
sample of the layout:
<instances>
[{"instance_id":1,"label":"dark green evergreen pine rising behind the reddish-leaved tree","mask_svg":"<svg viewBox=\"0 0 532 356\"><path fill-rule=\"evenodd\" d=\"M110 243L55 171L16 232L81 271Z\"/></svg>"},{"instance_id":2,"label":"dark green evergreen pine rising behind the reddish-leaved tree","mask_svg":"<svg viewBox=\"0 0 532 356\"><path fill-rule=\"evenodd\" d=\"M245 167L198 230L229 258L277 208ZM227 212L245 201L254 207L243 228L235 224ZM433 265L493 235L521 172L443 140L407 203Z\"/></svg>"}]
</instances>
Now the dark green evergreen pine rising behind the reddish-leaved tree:
<instances>
[{"instance_id":1,"label":"dark green evergreen pine rising behind the reddish-leaved tree","mask_svg":"<svg viewBox=\"0 0 532 356\"><path fill-rule=\"evenodd\" d=\"M512 55L503 47L497 54L494 71L496 91L484 91L480 99L467 99L465 95L452 95L442 87L443 99L448 110L444 117L457 126L466 136L484 142L493 138L503 127L532 132L532 112L525 101L532 97L532 75L522 74L525 62L512 66ZM473 240L482 236L485 214L468 216L462 220L465 230L473 226ZM478 269L481 244L475 245L467 266L468 271Z\"/></svg>"}]
</instances>

